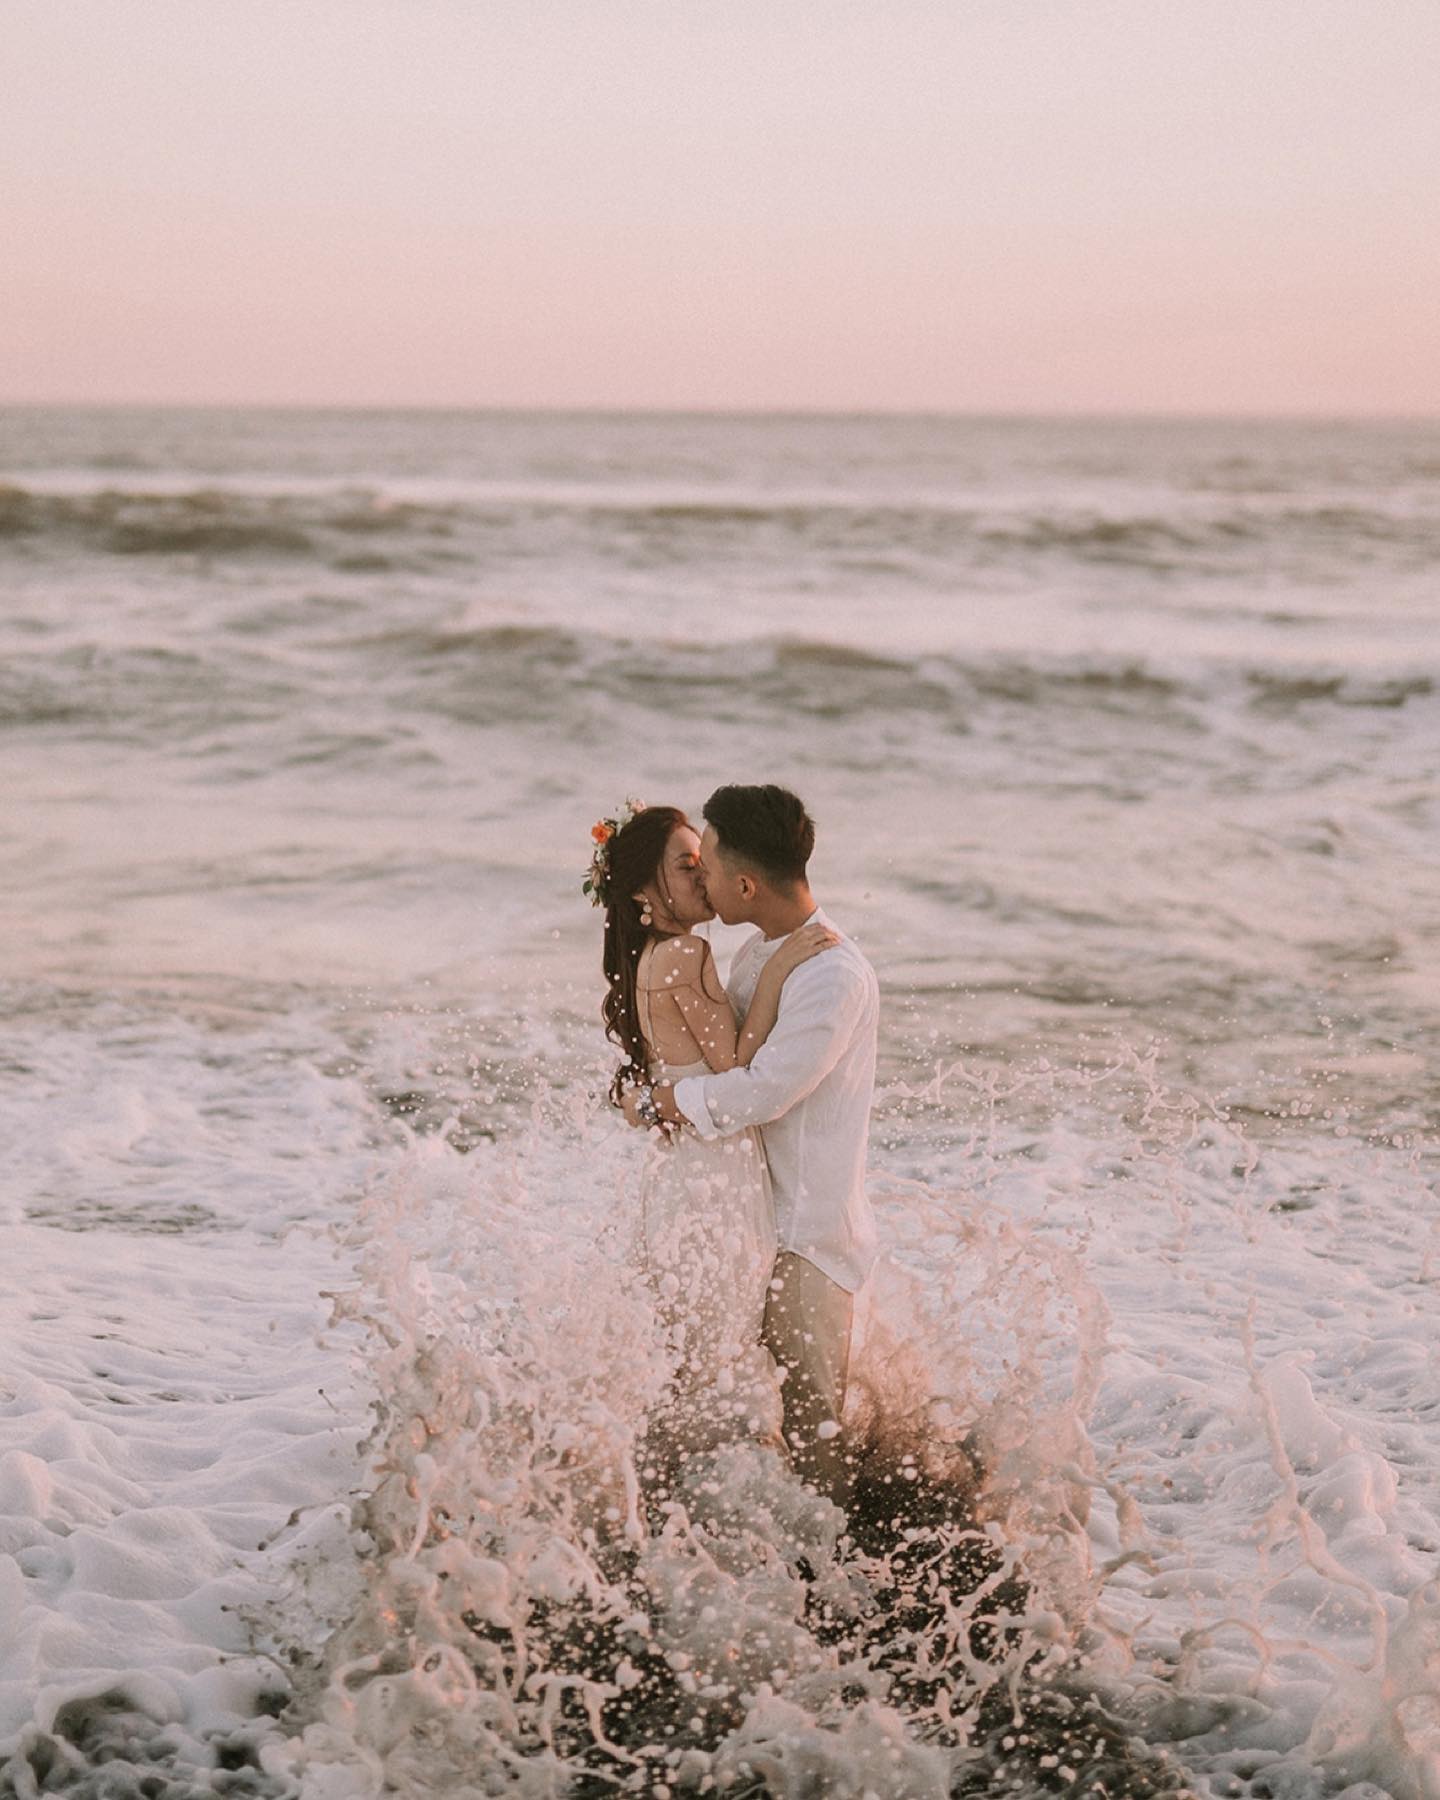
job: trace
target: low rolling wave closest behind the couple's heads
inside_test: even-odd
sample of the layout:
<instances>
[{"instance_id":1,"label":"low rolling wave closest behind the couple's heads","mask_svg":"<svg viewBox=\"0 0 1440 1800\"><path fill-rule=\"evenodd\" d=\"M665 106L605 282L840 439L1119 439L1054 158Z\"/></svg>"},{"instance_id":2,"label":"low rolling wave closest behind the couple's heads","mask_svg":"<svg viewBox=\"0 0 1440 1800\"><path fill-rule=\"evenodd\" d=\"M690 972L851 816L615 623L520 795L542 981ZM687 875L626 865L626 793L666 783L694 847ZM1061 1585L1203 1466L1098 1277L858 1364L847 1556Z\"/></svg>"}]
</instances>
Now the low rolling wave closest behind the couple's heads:
<instances>
[{"instance_id":1,"label":"low rolling wave closest behind the couple's heads","mask_svg":"<svg viewBox=\"0 0 1440 1800\"><path fill-rule=\"evenodd\" d=\"M544 724L558 742L585 743L661 707L716 731L778 720L830 727L841 734L835 756L850 747L878 765L904 761L922 727L949 738L992 727L1084 733L1111 716L1193 738L1246 715L1321 729L1337 707L1426 709L1440 691L1440 671L1424 668L887 655L808 637L716 646L545 625L355 630L306 605L270 607L265 619L263 650L248 612L184 650L99 639L49 648L38 632L0 668L0 729L227 754L265 733L288 763L378 756L409 765L434 760L414 742L427 716ZM324 675L308 655L320 634ZM286 637L297 655L284 652ZM871 736L851 740L853 725L873 727Z\"/></svg>"}]
</instances>

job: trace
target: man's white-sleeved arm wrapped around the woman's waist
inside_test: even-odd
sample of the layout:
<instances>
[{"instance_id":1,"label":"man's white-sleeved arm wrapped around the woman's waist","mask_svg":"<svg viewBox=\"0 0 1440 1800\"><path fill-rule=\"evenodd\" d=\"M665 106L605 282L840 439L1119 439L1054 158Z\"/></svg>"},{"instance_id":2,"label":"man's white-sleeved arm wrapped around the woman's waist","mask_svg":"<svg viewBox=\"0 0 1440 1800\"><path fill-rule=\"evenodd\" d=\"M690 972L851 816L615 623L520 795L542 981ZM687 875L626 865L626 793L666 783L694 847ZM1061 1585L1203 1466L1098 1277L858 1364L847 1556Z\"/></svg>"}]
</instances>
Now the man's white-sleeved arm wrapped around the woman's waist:
<instances>
[{"instance_id":1,"label":"man's white-sleeved arm wrapped around the woman's waist","mask_svg":"<svg viewBox=\"0 0 1440 1800\"><path fill-rule=\"evenodd\" d=\"M747 1125L769 1125L835 1067L864 1003L862 972L835 954L817 956L785 983L779 1019L751 1066L657 1087L661 1118L688 1121L702 1138L729 1138Z\"/></svg>"}]
</instances>

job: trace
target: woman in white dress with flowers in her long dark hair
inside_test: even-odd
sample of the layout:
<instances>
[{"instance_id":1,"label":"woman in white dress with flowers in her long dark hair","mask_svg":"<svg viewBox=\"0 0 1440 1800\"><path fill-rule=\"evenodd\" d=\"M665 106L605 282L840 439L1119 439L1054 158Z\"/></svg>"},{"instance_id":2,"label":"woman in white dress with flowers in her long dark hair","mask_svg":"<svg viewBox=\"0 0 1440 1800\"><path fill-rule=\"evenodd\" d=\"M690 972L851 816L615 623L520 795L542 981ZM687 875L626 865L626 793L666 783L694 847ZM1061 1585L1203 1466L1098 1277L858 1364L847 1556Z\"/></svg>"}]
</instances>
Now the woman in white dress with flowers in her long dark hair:
<instances>
[{"instance_id":1,"label":"woman in white dress with flowers in her long dark hair","mask_svg":"<svg viewBox=\"0 0 1440 1800\"><path fill-rule=\"evenodd\" d=\"M700 839L677 806L626 801L594 830L585 893L605 907L601 1008L625 1053L610 1084L679 1082L747 1066L774 1028L785 977L837 941L810 923L767 961L736 1022L709 943L715 918L698 880ZM760 1132L706 1141L689 1125L653 1130L641 1177L641 1255L666 1330L675 1381L652 1422L671 1453L743 1433L772 1435L774 1364L760 1345L776 1260L770 1174Z\"/></svg>"}]
</instances>

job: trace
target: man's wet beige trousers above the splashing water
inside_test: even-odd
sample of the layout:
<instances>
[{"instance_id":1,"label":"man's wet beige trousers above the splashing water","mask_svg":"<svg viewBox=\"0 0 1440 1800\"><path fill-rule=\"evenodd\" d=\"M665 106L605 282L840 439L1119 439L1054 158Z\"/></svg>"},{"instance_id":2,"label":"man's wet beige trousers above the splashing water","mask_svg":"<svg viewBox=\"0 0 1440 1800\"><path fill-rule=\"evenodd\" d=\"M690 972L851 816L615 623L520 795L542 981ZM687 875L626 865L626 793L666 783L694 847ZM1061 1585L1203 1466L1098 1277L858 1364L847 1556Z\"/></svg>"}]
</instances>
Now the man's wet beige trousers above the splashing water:
<instances>
[{"instance_id":1,"label":"man's wet beige trousers above the splashing water","mask_svg":"<svg viewBox=\"0 0 1440 1800\"><path fill-rule=\"evenodd\" d=\"M785 1442L796 1474L830 1499L848 1489L839 1422L850 1375L855 1300L828 1274L783 1249L776 1256L760 1341L781 1370Z\"/></svg>"}]
</instances>

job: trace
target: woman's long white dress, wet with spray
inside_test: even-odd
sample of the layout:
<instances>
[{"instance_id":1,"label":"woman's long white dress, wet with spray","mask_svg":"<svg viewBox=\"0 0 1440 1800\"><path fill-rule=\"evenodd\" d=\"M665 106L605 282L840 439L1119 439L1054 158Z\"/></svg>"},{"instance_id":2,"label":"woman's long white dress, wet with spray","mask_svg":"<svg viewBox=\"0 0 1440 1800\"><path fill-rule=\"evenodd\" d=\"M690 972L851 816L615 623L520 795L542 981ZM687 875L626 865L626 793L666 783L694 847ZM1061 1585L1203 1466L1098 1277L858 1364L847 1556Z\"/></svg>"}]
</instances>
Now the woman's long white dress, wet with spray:
<instances>
[{"instance_id":1,"label":"woman's long white dress, wet with spray","mask_svg":"<svg viewBox=\"0 0 1440 1800\"><path fill-rule=\"evenodd\" d=\"M639 1006L650 1046L644 992ZM652 1082L709 1073L704 1060L650 1064ZM652 1429L686 1454L772 1436L779 1395L760 1325L778 1246L760 1132L709 1143L689 1125L652 1134L641 1213L644 1273L675 1361L670 1402Z\"/></svg>"}]
</instances>

